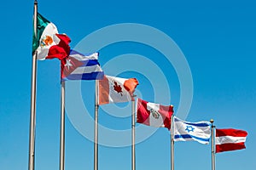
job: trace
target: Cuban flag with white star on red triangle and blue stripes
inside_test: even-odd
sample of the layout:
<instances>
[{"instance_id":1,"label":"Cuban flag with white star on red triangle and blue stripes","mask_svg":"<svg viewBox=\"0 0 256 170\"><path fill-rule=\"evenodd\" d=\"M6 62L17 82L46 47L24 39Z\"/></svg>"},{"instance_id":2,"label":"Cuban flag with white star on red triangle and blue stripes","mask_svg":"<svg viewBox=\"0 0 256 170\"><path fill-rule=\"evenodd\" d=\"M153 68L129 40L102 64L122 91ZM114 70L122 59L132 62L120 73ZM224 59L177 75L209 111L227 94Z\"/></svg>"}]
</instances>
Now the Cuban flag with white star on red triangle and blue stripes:
<instances>
[{"instance_id":1,"label":"Cuban flag with white star on red triangle and blue stripes","mask_svg":"<svg viewBox=\"0 0 256 170\"><path fill-rule=\"evenodd\" d=\"M61 60L61 80L101 80L104 72L98 56L99 53L84 55L71 50L69 56Z\"/></svg>"}]
</instances>

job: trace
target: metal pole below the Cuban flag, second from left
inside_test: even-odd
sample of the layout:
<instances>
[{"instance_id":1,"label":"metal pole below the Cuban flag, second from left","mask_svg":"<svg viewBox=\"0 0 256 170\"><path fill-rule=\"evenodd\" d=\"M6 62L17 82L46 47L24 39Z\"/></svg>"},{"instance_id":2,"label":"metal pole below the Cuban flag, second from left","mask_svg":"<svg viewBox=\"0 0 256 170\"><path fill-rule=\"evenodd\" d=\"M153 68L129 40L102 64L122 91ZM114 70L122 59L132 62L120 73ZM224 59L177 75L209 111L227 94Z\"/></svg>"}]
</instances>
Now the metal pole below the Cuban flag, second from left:
<instances>
[{"instance_id":1,"label":"metal pole below the Cuban flag, second from left","mask_svg":"<svg viewBox=\"0 0 256 170\"><path fill-rule=\"evenodd\" d=\"M60 139L60 170L65 165L65 81L61 82L61 139Z\"/></svg>"}]
</instances>

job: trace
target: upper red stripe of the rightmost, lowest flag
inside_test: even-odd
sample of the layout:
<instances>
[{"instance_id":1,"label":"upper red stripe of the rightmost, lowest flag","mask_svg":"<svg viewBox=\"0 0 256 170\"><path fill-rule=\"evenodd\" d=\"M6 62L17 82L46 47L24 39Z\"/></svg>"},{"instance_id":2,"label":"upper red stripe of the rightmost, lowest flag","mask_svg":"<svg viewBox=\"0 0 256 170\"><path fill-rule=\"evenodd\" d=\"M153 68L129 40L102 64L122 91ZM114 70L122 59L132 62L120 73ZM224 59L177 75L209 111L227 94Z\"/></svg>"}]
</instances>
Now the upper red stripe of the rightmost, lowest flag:
<instances>
[{"instance_id":1,"label":"upper red stripe of the rightmost, lowest flag","mask_svg":"<svg viewBox=\"0 0 256 170\"><path fill-rule=\"evenodd\" d=\"M233 128L216 129L216 137L220 136L246 137L247 132Z\"/></svg>"}]
</instances>

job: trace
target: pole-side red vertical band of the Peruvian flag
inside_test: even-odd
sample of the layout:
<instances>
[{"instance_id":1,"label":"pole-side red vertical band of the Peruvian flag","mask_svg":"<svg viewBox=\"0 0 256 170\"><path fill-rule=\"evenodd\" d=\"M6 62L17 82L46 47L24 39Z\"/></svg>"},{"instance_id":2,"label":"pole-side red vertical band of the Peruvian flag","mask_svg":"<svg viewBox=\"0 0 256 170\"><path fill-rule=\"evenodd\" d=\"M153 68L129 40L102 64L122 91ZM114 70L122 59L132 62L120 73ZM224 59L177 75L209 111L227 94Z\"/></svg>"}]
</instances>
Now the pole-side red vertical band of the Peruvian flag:
<instances>
[{"instance_id":1,"label":"pole-side red vertical band of the Peruvian flag","mask_svg":"<svg viewBox=\"0 0 256 170\"><path fill-rule=\"evenodd\" d=\"M137 122L150 126L148 119L150 111L147 110L147 103L142 99L137 99Z\"/></svg>"}]
</instances>

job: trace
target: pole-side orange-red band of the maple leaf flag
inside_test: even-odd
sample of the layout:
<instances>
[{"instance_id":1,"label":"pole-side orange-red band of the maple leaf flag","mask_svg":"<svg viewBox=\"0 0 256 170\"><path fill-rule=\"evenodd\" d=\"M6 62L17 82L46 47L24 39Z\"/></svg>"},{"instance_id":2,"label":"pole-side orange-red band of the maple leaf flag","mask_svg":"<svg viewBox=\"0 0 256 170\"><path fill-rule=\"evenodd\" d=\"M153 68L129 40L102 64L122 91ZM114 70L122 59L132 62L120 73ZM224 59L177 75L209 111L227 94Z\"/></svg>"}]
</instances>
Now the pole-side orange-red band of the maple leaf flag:
<instances>
[{"instance_id":1,"label":"pole-side orange-red band of the maple leaf flag","mask_svg":"<svg viewBox=\"0 0 256 170\"><path fill-rule=\"evenodd\" d=\"M99 105L109 104L109 83L108 78L104 76L102 80L99 80Z\"/></svg>"}]
</instances>

